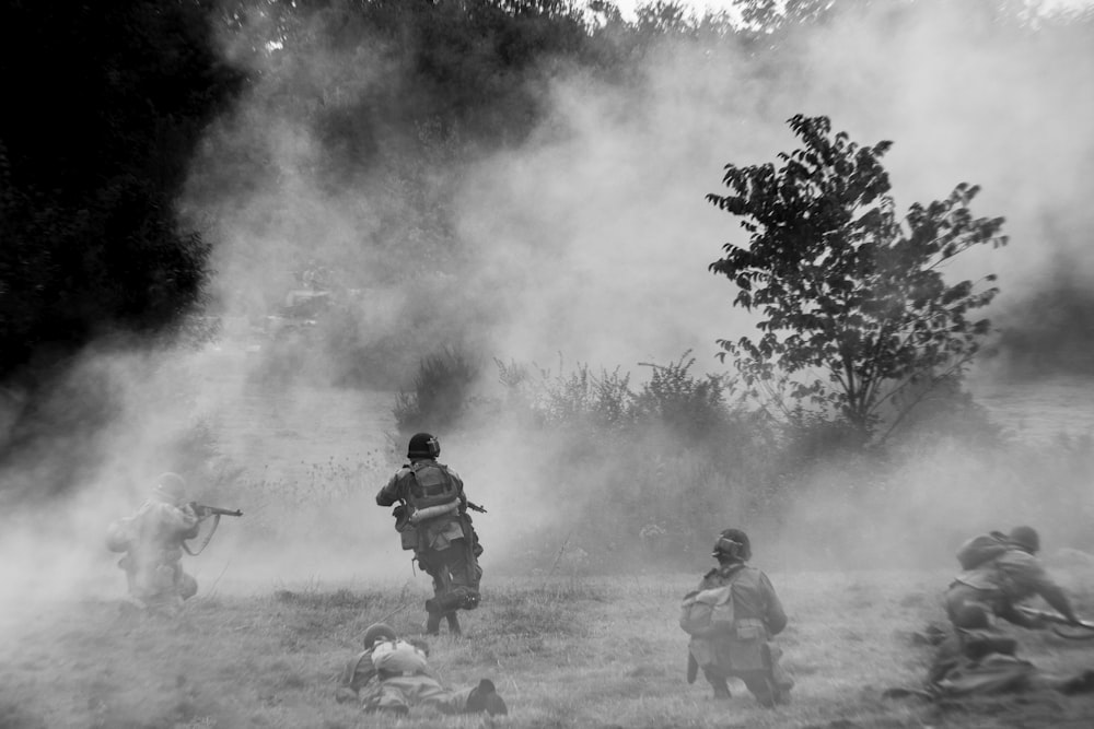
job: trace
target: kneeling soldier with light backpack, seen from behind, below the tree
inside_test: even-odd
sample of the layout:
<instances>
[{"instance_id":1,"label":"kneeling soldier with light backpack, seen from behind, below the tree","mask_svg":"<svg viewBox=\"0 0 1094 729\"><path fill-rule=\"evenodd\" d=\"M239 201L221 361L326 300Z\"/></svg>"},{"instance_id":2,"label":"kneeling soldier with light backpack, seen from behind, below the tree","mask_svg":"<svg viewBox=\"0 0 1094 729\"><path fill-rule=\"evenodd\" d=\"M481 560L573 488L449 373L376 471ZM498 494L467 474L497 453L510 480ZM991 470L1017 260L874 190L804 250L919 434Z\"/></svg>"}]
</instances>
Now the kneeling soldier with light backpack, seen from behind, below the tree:
<instances>
[{"instance_id":1,"label":"kneeling soldier with light backpack, seen from behind, below the tree","mask_svg":"<svg viewBox=\"0 0 1094 729\"><path fill-rule=\"evenodd\" d=\"M788 702L794 682L770 643L787 626L787 614L767 575L745 564L752 557L747 534L726 529L711 556L718 566L685 596L680 612L680 627L691 635L688 683L701 668L714 698L730 698L726 679L737 678L761 706Z\"/></svg>"}]
</instances>

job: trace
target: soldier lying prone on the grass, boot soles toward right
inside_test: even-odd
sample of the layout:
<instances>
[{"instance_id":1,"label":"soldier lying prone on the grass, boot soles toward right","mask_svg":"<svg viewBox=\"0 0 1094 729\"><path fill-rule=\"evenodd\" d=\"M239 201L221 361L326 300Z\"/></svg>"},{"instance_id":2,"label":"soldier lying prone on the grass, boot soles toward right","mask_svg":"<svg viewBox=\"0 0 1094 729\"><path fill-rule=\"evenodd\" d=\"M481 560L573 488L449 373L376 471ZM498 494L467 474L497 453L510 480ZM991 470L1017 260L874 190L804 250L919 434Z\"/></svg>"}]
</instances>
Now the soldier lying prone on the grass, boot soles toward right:
<instances>
[{"instance_id":1,"label":"soldier lying prone on the grass, boot soles toward right","mask_svg":"<svg viewBox=\"0 0 1094 729\"><path fill-rule=\"evenodd\" d=\"M396 716L409 714L412 706L441 714L509 714L492 681L481 679L472 689L450 691L433 677L428 659L424 642L400 639L389 625L374 623L364 632L364 651L342 670L335 698Z\"/></svg>"}]
</instances>

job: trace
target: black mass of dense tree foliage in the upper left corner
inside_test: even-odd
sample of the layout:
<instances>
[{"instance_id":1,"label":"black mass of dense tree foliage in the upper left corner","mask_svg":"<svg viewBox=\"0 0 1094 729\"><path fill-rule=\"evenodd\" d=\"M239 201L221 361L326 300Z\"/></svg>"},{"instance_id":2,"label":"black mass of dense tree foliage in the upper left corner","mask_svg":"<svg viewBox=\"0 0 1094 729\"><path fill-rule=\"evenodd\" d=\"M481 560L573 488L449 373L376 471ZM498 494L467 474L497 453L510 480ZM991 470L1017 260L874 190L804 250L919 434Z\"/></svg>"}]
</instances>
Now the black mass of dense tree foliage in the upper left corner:
<instances>
[{"instance_id":1,"label":"black mass of dense tree foliage in the upper left corner","mask_svg":"<svg viewBox=\"0 0 1094 729\"><path fill-rule=\"evenodd\" d=\"M0 377L198 302L209 246L174 224L198 134L240 77L212 3L15 2L0 32ZM33 73L27 59L38 59Z\"/></svg>"}]
</instances>

